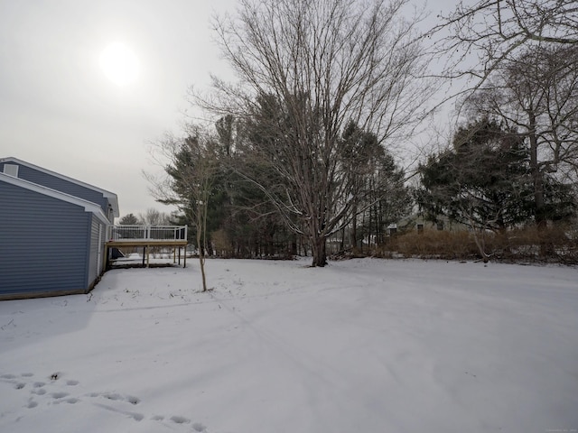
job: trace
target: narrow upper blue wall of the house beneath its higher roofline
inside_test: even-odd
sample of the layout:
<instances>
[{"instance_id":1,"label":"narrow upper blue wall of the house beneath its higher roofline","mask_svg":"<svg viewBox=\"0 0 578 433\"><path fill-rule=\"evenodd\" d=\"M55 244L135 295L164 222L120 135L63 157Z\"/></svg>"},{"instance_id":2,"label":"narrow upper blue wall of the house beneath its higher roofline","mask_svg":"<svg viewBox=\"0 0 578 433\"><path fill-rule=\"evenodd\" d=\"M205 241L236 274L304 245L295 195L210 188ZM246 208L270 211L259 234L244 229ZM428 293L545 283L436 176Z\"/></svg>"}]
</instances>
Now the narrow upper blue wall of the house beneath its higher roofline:
<instances>
[{"instance_id":1,"label":"narrow upper blue wall of the house beneath its higher roofline","mask_svg":"<svg viewBox=\"0 0 578 433\"><path fill-rule=\"evenodd\" d=\"M102 193L15 162L0 162L0 172L4 171L5 163L19 166L18 178L96 203L108 217L108 199Z\"/></svg>"}]
</instances>

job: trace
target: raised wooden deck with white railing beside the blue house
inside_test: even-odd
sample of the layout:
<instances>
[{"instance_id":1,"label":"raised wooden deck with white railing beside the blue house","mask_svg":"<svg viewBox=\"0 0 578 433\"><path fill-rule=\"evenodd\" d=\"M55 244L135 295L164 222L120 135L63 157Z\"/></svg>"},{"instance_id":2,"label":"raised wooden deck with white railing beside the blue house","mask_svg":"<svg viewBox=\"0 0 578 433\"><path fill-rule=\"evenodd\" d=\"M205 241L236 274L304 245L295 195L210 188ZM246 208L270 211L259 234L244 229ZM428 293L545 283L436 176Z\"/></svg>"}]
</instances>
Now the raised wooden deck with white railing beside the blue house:
<instances>
[{"instance_id":1,"label":"raised wooden deck with white railing beside the blue house","mask_svg":"<svg viewBox=\"0 0 578 433\"><path fill-rule=\"evenodd\" d=\"M152 247L172 248L173 263L187 266L187 226L109 226L108 241L106 243L107 268L111 267L110 249L135 247L143 248L143 266L150 265L150 251Z\"/></svg>"}]
</instances>

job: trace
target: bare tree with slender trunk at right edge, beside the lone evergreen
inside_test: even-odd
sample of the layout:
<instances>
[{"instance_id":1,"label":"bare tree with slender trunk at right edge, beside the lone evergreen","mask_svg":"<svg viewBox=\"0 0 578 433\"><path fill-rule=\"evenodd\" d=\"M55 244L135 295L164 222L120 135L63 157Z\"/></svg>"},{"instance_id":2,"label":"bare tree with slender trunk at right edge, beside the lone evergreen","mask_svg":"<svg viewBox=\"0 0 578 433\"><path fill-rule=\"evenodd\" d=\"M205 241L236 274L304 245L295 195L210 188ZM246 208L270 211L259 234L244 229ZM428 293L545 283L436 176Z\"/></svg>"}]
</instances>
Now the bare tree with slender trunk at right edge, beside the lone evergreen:
<instances>
[{"instance_id":1,"label":"bare tree with slender trunk at right edge, beside the lone evergreen","mask_svg":"<svg viewBox=\"0 0 578 433\"><path fill-rule=\"evenodd\" d=\"M474 114L499 118L527 141L536 223L551 216L545 176L578 165L578 45L536 47L507 60L488 85L466 100Z\"/></svg>"}]
</instances>

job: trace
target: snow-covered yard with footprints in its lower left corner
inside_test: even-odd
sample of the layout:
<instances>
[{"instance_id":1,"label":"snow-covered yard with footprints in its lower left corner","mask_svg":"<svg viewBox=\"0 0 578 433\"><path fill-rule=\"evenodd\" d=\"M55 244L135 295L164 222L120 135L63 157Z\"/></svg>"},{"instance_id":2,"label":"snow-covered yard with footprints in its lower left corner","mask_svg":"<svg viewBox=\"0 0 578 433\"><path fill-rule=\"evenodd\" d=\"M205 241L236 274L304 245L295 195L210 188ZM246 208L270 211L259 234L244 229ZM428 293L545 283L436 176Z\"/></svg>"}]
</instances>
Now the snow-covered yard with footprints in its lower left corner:
<instances>
[{"instance_id":1,"label":"snow-covered yard with footprints in its lower left corner","mask_svg":"<svg viewBox=\"0 0 578 433\"><path fill-rule=\"evenodd\" d=\"M210 260L0 302L0 431L578 428L578 270Z\"/></svg>"}]
</instances>

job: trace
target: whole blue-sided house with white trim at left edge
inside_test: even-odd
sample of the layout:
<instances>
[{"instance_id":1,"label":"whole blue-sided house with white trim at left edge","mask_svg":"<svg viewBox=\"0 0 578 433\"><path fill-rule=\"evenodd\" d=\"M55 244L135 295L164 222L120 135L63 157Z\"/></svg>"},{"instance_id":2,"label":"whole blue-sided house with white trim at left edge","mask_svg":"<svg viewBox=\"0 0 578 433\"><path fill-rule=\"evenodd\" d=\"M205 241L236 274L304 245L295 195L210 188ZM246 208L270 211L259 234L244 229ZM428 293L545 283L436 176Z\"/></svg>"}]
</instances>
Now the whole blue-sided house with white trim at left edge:
<instances>
[{"instance_id":1,"label":"whole blue-sided house with white trim at left edge","mask_svg":"<svg viewBox=\"0 0 578 433\"><path fill-rule=\"evenodd\" d=\"M117 195L0 159L0 299L87 293L105 271Z\"/></svg>"}]
</instances>

